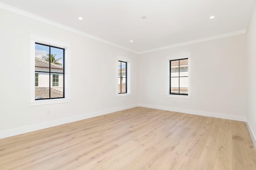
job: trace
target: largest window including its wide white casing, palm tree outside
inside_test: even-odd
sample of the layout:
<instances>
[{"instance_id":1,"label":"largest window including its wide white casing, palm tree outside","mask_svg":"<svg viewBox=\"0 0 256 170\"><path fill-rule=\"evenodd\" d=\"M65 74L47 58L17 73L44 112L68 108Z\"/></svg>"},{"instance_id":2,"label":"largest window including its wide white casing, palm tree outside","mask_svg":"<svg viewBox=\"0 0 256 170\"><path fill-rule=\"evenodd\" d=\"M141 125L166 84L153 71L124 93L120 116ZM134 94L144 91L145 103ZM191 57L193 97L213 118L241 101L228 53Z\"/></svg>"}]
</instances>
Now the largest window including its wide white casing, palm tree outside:
<instances>
[{"instance_id":1,"label":"largest window including its wide white casing, palm tree outside","mask_svg":"<svg viewBox=\"0 0 256 170\"><path fill-rule=\"evenodd\" d=\"M70 60L71 43L30 33L30 106L71 102Z\"/></svg>"}]
</instances>

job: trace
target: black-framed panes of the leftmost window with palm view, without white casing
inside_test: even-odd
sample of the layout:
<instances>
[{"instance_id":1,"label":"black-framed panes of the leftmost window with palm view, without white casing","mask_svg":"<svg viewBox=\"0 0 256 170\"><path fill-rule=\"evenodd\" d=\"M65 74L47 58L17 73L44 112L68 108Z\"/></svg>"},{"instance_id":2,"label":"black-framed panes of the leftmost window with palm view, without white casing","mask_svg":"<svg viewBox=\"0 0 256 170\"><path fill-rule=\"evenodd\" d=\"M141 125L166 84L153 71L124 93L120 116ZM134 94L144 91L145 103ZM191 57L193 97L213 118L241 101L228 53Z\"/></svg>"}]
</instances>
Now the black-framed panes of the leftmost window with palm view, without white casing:
<instances>
[{"instance_id":1,"label":"black-framed panes of the leftmost window with palm view, without white casing","mask_svg":"<svg viewBox=\"0 0 256 170\"><path fill-rule=\"evenodd\" d=\"M65 49L35 43L35 100L65 97L64 66Z\"/></svg>"}]
</instances>

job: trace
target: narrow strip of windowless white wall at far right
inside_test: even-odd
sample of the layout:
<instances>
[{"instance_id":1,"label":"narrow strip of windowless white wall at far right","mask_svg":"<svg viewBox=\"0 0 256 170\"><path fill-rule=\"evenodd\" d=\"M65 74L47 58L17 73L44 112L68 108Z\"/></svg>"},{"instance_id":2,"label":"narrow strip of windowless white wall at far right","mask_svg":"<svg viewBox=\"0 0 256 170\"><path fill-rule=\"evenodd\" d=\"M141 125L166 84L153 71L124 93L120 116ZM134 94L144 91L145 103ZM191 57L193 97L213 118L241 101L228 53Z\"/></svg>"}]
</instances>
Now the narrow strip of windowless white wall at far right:
<instances>
[{"instance_id":1,"label":"narrow strip of windowless white wall at far right","mask_svg":"<svg viewBox=\"0 0 256 170\"><path fill-rule=\"evenodd\" d=\"M256 3L246 32L248 55L248 109L246 118L256 145Z\"/></svg>"}]
</instances>

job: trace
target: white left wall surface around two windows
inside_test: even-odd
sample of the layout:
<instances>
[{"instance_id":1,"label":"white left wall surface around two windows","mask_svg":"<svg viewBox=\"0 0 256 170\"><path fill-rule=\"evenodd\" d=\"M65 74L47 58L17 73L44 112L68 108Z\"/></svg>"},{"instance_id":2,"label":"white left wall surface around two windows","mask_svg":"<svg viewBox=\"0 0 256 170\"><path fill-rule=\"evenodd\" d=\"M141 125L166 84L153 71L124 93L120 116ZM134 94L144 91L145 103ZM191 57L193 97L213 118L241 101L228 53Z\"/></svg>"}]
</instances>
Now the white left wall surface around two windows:
<instances>
[{"instance_id":1,"label":"white left wall surface around two windows","mask_svg":"<svg viewBox=\"0 0 256 170\"><path fill-rule=\"evenodd\" d=\"M0 138L138 105L135 53L2 9L0 21ZM72 44L70 103L30 106L30 32ZM116 97L118 56L131 60L131 96Z\"/></svg>"}]
</instances>

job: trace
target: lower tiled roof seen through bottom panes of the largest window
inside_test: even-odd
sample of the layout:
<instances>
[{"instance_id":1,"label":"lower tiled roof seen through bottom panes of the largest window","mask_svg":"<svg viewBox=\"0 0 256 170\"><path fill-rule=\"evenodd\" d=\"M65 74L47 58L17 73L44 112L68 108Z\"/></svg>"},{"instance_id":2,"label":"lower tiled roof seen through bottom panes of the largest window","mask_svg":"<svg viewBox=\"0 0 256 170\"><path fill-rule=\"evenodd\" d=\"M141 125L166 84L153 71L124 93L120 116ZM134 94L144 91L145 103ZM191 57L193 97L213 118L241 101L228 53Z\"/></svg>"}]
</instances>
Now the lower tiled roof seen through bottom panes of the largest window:
<instances>
[{"instance_id":1,"label":"lower tiled roof seen through bottom panes of the largest window","mask_svg":"<svg viewBox=\"0 0 256 170\"><path fill-rule=\"evenodd\" d=\"M51 88L51 98L62 98L63 92ZM47 99L49 98L48 87L35 87L35 99Z\"/></svg>"}]
</instances>

